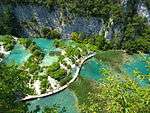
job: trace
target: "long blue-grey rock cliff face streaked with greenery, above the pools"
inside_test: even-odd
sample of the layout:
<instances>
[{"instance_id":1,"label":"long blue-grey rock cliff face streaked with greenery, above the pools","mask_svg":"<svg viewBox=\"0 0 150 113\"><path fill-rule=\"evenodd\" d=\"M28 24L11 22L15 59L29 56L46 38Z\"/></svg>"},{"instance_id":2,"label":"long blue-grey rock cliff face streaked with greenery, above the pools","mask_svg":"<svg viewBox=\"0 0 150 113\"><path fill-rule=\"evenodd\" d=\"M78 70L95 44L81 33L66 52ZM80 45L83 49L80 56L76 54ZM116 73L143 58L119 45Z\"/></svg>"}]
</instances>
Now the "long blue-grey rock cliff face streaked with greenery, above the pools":
<instances>
[{"instance_id":1,"label":"long blue-grey rock cliff face streaked with greenery, above the pools","mask_svg":"<svg viewBox=\"0 0 150 113\"><path fill-rule=\"evenodd\" d=\"M101 20L98 18L77 17L68 12L62 13L57 8L49 10L35 5L16 6L14 14L26 36L41 35L41 29L44 27L58 30L65 38L69 37L71 32L94 34L99 33L101 29Z\"/></svg>"}]
</instances>

